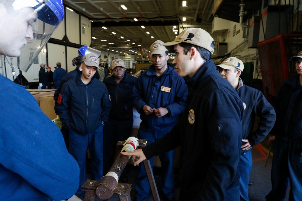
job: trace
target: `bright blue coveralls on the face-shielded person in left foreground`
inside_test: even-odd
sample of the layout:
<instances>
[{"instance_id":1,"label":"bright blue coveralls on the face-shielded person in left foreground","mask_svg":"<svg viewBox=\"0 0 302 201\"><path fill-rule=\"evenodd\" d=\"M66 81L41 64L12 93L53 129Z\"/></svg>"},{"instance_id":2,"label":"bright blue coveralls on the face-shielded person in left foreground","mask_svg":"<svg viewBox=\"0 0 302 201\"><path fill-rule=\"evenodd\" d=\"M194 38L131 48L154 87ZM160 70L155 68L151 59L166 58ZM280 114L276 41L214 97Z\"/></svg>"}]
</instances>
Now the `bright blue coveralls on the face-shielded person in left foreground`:
<instances>
[{"instance_id":1,"label":"bright blue coveralls on the face-shielded person in left foreground","mask_svg":"<svg viewBox=\"0 0 302 201\"><path fill-rule=\"evenodd\" d=\"M24 86L1 74L0 97L0 200L72 197L79 187L79 165L58 127Z\"/></svg>"}]
</instances>

